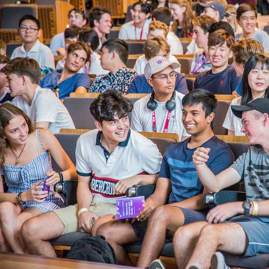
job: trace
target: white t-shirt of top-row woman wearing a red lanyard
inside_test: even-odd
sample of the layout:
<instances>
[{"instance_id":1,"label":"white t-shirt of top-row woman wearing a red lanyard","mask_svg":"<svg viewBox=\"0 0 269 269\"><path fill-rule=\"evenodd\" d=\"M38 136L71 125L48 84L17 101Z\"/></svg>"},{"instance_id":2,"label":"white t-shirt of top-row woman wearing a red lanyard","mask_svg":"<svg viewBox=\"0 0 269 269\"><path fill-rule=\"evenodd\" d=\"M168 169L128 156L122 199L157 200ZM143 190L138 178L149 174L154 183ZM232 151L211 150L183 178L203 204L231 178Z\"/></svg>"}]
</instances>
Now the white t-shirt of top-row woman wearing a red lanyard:
<instances>
[{"instance_id":1,"label":"white t-shirt of top-row woman wearing a red lanyard","mask_svg":"<svg viewBox=\"0 0 269 269\"><path fill-rule=\"evenodd\" d=\"M118 38L119 39L147 39L147 35L149 33L149 25L151 23L151 19L147 19L145 21L145 24L143 28L137 28L133 25L133 21L124 23L119 30ZM141 31L143 30L142 33L142 38L141 36Z\"/></svg>"}]
</instances>

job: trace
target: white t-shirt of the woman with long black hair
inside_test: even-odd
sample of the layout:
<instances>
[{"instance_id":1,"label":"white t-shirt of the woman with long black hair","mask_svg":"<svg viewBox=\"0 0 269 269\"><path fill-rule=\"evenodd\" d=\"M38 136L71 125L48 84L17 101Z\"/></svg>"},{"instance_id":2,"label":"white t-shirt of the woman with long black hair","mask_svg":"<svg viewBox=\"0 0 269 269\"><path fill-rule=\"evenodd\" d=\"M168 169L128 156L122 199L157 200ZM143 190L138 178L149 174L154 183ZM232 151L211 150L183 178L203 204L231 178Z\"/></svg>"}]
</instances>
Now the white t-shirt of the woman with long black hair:
<instances>
[{"instance_id":1,"label":"white t-shirt of the woman with long black hair","mask_svg":"<svg viewBox=\"0 0 269 269\"><path fill-rule=\"evenodd\" d=\"M241 96L234 98L230 104L230 107L227 111L225 120L222 126L228 130L234 131L235 136L244 136L245 134L242 133L240 130L242 128L241 119L236 117L231 109L231 105L240 105L241 103Z\"/></svg>"}]
</instances>

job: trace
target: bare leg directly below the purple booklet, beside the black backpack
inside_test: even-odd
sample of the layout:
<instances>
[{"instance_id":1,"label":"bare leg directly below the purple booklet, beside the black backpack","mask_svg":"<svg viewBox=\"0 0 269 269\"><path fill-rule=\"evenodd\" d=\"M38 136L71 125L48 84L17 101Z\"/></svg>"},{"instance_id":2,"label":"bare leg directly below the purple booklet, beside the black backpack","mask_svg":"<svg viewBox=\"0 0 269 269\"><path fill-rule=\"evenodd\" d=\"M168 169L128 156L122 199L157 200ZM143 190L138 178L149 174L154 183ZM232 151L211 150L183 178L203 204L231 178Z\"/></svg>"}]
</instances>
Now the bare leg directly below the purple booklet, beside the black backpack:
<instances>
[{"instance_id":1,"label":"bare leg directly below the purple booklet, beside the black backpack","mask_svg":"<svg viewBox=\"0 0 269 269\"><path fill-rule=\"evenodd\" d=\"M98 235L103 235L106 241L115 251L117 262L122 265L132 266L129 256L122 245L138 241L132 226L129 222L113 220L100 226Z\"/></svg>"}]
</instances>

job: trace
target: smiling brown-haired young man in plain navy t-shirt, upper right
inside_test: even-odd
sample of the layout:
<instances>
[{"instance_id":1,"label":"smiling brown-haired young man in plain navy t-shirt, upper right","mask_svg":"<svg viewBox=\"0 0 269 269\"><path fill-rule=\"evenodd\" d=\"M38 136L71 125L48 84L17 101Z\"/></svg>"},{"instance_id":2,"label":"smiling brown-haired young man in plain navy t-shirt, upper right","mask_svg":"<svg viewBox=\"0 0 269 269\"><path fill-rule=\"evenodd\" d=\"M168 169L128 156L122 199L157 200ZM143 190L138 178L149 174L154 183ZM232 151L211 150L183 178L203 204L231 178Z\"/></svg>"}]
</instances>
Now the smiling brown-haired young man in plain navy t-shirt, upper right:
<instances>
[{"instance_id":1,"label":"smiling brown-haired young man in plain navy t-shirt, upper right","mask_svg":"<svg viewBox=\"0 0 269 269\"><path fill-rule=\"evenodd\" d=\"M214 94L232 94L240 81L233 66L228 64L229 57L232 57L233 42L233 36L225 30L217 30L209 36L212 69L197 75L194 89L207 89Z\"/></svg>"}]
</instances>

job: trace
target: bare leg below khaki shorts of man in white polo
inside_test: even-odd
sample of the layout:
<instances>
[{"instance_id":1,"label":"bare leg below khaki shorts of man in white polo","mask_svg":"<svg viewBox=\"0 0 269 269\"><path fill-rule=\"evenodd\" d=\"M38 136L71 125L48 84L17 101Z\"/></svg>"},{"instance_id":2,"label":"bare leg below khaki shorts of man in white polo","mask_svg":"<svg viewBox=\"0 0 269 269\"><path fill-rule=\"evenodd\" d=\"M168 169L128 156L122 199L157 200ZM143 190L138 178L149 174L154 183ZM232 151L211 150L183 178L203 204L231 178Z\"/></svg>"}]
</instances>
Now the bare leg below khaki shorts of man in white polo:
<instances>
[{"instance_id":1,"label":"bare leg below khaki shorts of man in white polo","mask_svg":"<svg viewBox=\"0 0 269 269\"><path fill-rule=\"evenodd\" d=\"M63 229L61 220L52 211L26 221L22 226L22 236L29 253L56 257L48 240L59 237Z\"/></svg>"}]
</instances>

